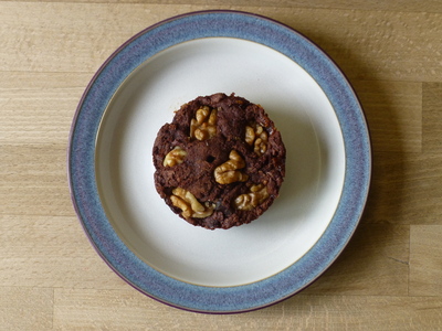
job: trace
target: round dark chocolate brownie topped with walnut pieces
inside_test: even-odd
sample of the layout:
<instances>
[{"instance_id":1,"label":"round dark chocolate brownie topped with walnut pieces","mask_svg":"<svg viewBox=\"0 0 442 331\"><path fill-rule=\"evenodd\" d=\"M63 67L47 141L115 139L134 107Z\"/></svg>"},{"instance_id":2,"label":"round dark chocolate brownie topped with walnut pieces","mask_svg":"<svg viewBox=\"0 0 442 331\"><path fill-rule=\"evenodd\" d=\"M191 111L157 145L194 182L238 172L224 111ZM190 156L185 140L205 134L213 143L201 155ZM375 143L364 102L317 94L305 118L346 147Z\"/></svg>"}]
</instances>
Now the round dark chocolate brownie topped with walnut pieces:
<instances>
[{"instance_id":1,"label":"round dark chocolate brownie topped with walnut pieces","mask_svg":"<svg viewBox=\"0 0 442 331\"><path fill-rule=\"evenodd\" d=\"M192 225L252 222L278 196L285 175L280 131L260 105L219 93L181 106L154 143L155 186Z\"/></svg>"}]
</instances>

